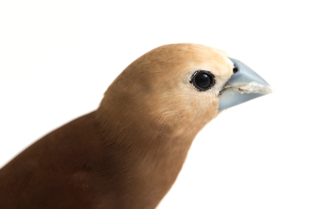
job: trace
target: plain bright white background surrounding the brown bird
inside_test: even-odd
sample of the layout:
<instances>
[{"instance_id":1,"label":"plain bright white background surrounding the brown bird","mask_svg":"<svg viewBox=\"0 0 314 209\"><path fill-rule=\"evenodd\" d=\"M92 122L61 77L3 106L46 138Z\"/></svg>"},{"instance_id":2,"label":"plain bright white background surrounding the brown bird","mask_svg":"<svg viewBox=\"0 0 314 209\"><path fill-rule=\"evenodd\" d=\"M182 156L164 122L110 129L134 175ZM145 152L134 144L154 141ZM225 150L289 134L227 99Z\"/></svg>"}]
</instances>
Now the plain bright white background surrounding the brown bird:
<instances>
[{"instance_id":1,"label":"plain bright white background surrounding the brown bird","mask_svg":"<svg viewBox=\"0 0 314 209\"><path fill-rule=\"evenodd\" d=\"M275 93L197 136L166 208L314 208L310 1L0 2L0 166L97 108L113 79L170 43L222 49Z\"/></svg>"}]
</instances>

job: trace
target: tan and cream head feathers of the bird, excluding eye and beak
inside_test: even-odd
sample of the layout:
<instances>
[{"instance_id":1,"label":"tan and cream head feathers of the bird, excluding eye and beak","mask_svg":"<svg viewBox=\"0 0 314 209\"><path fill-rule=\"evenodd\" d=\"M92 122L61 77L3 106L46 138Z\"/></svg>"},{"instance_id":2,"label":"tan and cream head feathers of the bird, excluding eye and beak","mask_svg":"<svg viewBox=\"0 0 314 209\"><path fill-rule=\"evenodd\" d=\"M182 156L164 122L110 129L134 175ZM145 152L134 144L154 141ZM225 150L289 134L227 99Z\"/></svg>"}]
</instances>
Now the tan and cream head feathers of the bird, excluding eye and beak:
<instances>
[{"instance_id":1,"label":"tan and cream head feathers of the bird, excluding eye and beak","mask_svg":"<svg viewBox=\"0 0 314 209\"><path fill-rule=\"evenodd\" d=\"M175 135L187 129L196 134L217 115L218 94L233 74L232 69L232 61L214 48L162 46L135 60L115 79L99 110L116 111L116 118L171 130ZM216 83L208 91L198 91L190 83L199 70L215 76ZM126 117L125 113L131 115Z\"/></svg>"}]
</instances>

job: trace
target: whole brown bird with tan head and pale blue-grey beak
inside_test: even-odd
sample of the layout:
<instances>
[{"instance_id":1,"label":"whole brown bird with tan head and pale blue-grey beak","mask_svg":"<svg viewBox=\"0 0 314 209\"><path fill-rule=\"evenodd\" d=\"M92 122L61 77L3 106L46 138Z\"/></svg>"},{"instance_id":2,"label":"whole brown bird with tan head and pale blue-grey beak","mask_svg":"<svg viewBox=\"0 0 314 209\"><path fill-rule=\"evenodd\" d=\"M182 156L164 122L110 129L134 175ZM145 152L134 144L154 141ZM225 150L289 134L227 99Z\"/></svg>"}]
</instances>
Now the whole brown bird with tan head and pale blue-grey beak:
<instances>
[{"instance_id":1,"label":"whole brown bird with tan head and pale blue-grey beak","mask_svg":"<svg viewBox=\"0 0 314 209\"><path fill-rule=\"evenodd\" d=\"M0 208L155 208L197 133L223 110L271 91L219 49L155 48L121 72L96 110L0 169Z\"/></svg>"}]
</instances>

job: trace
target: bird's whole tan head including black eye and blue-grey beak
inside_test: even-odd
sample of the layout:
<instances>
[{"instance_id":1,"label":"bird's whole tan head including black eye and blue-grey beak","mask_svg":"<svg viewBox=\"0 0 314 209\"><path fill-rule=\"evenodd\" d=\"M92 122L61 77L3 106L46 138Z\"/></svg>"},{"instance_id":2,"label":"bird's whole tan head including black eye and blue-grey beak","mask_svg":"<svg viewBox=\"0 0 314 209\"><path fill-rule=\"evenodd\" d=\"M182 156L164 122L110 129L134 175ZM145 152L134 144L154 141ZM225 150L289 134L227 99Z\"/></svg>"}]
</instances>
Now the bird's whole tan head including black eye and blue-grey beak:
<instances>
[{"instance_id":1,"label":"bird's whole tan head including black eye and blue-grey beak","mask_svg":"<svg viewBox=\"0 0 314 209\"><path fill-rule=\"evenodd\" d=\"M172 44L131 63L105 92L99 109L137 125L197 133L223 109L269 92L266 81L220 50Z\"/></svg>"}]
</instances>

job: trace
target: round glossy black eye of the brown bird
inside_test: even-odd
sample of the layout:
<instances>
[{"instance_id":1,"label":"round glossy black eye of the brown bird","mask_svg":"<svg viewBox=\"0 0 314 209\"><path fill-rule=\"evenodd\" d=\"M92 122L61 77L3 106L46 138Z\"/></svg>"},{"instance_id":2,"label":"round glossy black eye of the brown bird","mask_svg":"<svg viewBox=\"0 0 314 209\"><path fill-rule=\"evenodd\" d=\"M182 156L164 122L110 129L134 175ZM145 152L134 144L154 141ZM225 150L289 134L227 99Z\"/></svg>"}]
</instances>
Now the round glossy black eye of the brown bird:
<instances>
[{"instance_id":1,"label":"round glossy black eye of the brown bird","mask_svg":"<svg viewBox=\"0 0 314 209\"><path fill-rule=\"evenodd\" d=\"M215 85L215 76L208 71L196 71L191 77L190 83L198 91L206 91Z\"/></svg>"}]
</instances>

